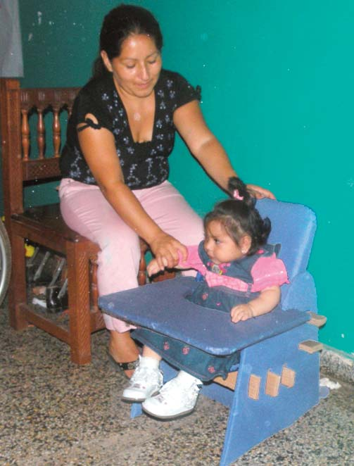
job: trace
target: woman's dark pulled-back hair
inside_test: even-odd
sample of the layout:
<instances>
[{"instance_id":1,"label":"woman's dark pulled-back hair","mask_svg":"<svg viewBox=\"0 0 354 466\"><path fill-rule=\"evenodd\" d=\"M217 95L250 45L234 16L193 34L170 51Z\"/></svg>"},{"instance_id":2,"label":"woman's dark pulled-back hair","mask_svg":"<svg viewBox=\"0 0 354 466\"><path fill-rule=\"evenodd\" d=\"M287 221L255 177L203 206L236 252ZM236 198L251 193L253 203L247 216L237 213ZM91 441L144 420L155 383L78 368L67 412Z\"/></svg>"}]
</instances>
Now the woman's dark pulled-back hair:
<instances>
[{"instance_id":1,"label":"woman's dark pulled-back hair","mask_svg":"<svg viewBox=\"0 0 354 466\"><path fill-rule=\"evenodd\" d=\"M120 56L122 43L132 34L145 34L156 44L158 51L163 48L163 36L156 18L141 6L121 4L105 16L100 34L99 50L106 51L110 60ZM94 62L93 77L108 73L101 56Z\"/></svg>"}]
</instances>

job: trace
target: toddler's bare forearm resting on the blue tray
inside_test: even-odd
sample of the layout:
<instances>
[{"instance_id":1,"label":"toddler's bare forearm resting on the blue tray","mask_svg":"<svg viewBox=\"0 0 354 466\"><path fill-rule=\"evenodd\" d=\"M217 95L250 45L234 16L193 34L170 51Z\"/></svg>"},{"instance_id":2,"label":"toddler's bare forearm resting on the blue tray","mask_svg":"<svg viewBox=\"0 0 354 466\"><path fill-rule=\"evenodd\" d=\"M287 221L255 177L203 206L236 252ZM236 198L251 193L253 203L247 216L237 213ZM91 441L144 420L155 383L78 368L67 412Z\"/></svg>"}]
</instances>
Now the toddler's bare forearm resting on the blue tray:
<instances>
[{"instance_id":1,"label":"toddler's bare forearm resting on the blue tray","mask_svg":"<svg viewBox=\"0 0 354 466\"><path fill-rule=\"evenodd\" d=\"M258 298L249 301L246 304L234 306L231 310L231 320L236 323L240 320L248 320L251 317L269 313L279 304L280 287L269 286L260 292Z\"/></svg>"}]
</instances>

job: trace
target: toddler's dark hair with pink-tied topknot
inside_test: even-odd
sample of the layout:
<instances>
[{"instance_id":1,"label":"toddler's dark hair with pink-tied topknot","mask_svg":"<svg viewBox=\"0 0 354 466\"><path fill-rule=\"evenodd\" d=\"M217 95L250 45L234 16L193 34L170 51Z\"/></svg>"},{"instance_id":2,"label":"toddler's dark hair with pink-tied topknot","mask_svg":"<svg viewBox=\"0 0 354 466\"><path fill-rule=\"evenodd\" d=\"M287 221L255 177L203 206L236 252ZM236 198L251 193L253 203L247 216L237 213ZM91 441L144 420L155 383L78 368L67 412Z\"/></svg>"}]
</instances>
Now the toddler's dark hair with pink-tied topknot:
<instances>
[{"instance_id":1,"label":"toddler's dark hair with pink-tied topknot","mask_svg":"<svg viewBox=\"0 0 354 466\"><path fill-rule=\"evenodd\" d=\"M212 220L217 220L222 223L227 234L236 244L239 244L241 238L248 234L251 238L251 248L247 256L251 256L267 241L271 229L270 219L261 218L255 208L255 198L251 197L246 184L239 178L229 179L228 190L232 197L236 195L237 199L227 199L227 201L217 203L204 218L204 228Z\"/></svg>"}]
</instances>

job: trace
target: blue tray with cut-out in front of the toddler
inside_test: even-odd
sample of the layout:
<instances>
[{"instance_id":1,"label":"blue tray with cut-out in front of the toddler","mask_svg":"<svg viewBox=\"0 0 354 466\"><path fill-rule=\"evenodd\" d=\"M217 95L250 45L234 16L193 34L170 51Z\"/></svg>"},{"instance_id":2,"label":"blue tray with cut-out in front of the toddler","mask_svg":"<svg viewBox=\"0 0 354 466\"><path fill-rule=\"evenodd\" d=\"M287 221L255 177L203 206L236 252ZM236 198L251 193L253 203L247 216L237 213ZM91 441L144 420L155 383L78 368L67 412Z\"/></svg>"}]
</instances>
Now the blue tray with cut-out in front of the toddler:
<instances>
[{"instance_id":1,"label":"blue tray with cut-out in front of the toddler","mask_svg":"<svg viewBox=\"0 0 354 466\"><path fill-rule=\"evenodd\" d=\"M177 277L101 296L99 306L113 317L215 355L234 353L310 320L308 313L276 308L271 313L234 324L229 313L203 308L184 298L197 285L192 277Z\"/></svg>"}]
</instances>

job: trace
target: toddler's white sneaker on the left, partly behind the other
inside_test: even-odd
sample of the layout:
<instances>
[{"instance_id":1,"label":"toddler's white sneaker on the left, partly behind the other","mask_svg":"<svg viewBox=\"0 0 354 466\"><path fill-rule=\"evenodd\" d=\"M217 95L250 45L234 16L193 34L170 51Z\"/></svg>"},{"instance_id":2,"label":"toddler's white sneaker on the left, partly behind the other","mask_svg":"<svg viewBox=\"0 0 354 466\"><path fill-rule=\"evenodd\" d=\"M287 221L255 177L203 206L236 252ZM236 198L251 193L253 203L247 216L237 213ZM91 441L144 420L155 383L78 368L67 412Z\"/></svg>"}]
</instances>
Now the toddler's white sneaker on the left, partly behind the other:
<instances>
[{"instance_id":1,"label":"toddler's white sneaker on the left, partly behind the other","mask_svg":"<svg viewBox=\"0 0 354 466\"><path fill-rule=\"evenodd\" d=\"M134 371L130 384L122 393L122 400L140 402L158 393L163 385L163 373L158 367L139 365Z\"/></svg>"}]
</instances>

